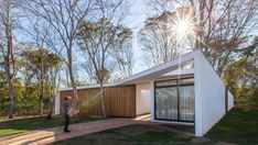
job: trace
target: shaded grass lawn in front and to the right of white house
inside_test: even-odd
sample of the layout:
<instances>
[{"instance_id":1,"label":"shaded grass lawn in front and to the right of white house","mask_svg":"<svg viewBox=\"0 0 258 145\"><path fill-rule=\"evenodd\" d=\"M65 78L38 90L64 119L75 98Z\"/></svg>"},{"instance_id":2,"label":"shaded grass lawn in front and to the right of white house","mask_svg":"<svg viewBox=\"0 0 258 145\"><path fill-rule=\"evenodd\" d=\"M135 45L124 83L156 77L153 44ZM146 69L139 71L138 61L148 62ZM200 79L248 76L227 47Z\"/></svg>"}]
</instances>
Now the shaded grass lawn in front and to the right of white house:
<instances>
[{"instance_id":1,"label":"shaded grass lawn in front and to the right of white house","mask_svg":"<svg viewBox=\"0 0 258 145\"><path fill-rule=\"evenodd\" d=\"M205 137L197 138L176 134L169 129L193 133L193 127L162 125L130 125L68 141L55 143L68 144L258 144L258 110L234 109L217 123Z\"/></svg>"}]
</instances>

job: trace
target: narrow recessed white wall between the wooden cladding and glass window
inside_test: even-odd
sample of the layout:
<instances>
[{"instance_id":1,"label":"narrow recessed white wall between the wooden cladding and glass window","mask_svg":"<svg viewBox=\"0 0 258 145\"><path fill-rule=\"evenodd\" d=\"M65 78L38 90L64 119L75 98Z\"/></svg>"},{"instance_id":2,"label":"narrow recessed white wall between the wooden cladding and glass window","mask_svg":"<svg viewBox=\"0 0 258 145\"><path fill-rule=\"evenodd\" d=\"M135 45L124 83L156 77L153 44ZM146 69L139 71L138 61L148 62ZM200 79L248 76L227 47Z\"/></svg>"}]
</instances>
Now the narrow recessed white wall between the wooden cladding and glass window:
<instances>
[{"instance_id":1,"label":"narrow recessed white wall between the wooden cladding and glass window","mask_svg":"<svg viewBox=\"0 0 258 145\"><path fill-rule=\"evenodd\" d=\"M150 83L136 85L136 110L137 115L150 113L151 87Z\"/></svg>"}]
</instances>

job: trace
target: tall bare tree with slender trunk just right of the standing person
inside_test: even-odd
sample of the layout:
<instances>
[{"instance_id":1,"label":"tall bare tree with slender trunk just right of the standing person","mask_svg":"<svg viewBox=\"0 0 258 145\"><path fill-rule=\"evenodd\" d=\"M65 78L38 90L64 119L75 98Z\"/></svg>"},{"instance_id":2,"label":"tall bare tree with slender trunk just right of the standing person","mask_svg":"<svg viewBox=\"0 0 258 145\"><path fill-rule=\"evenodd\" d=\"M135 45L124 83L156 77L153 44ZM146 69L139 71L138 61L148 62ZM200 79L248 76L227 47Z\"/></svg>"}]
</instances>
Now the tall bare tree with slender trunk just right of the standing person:
<instances>
[{"instance_id":1,"label":"tall bare tree with slender trunk just right of the standing person","mask_svg":"<svg viewBox=\"0 0 258 145\"><path fill-rule=\"evenodd\" d=\"M44 19L57 33L62 45L54 49L60 54L68 69L74 94L74 108L78 109L78 96L73 68L73 49L78 26L89 16L95 5L93 0L28 0L26 9ZM65 52L65 53L63 53Z\"/></svg>"}]
</instances>

